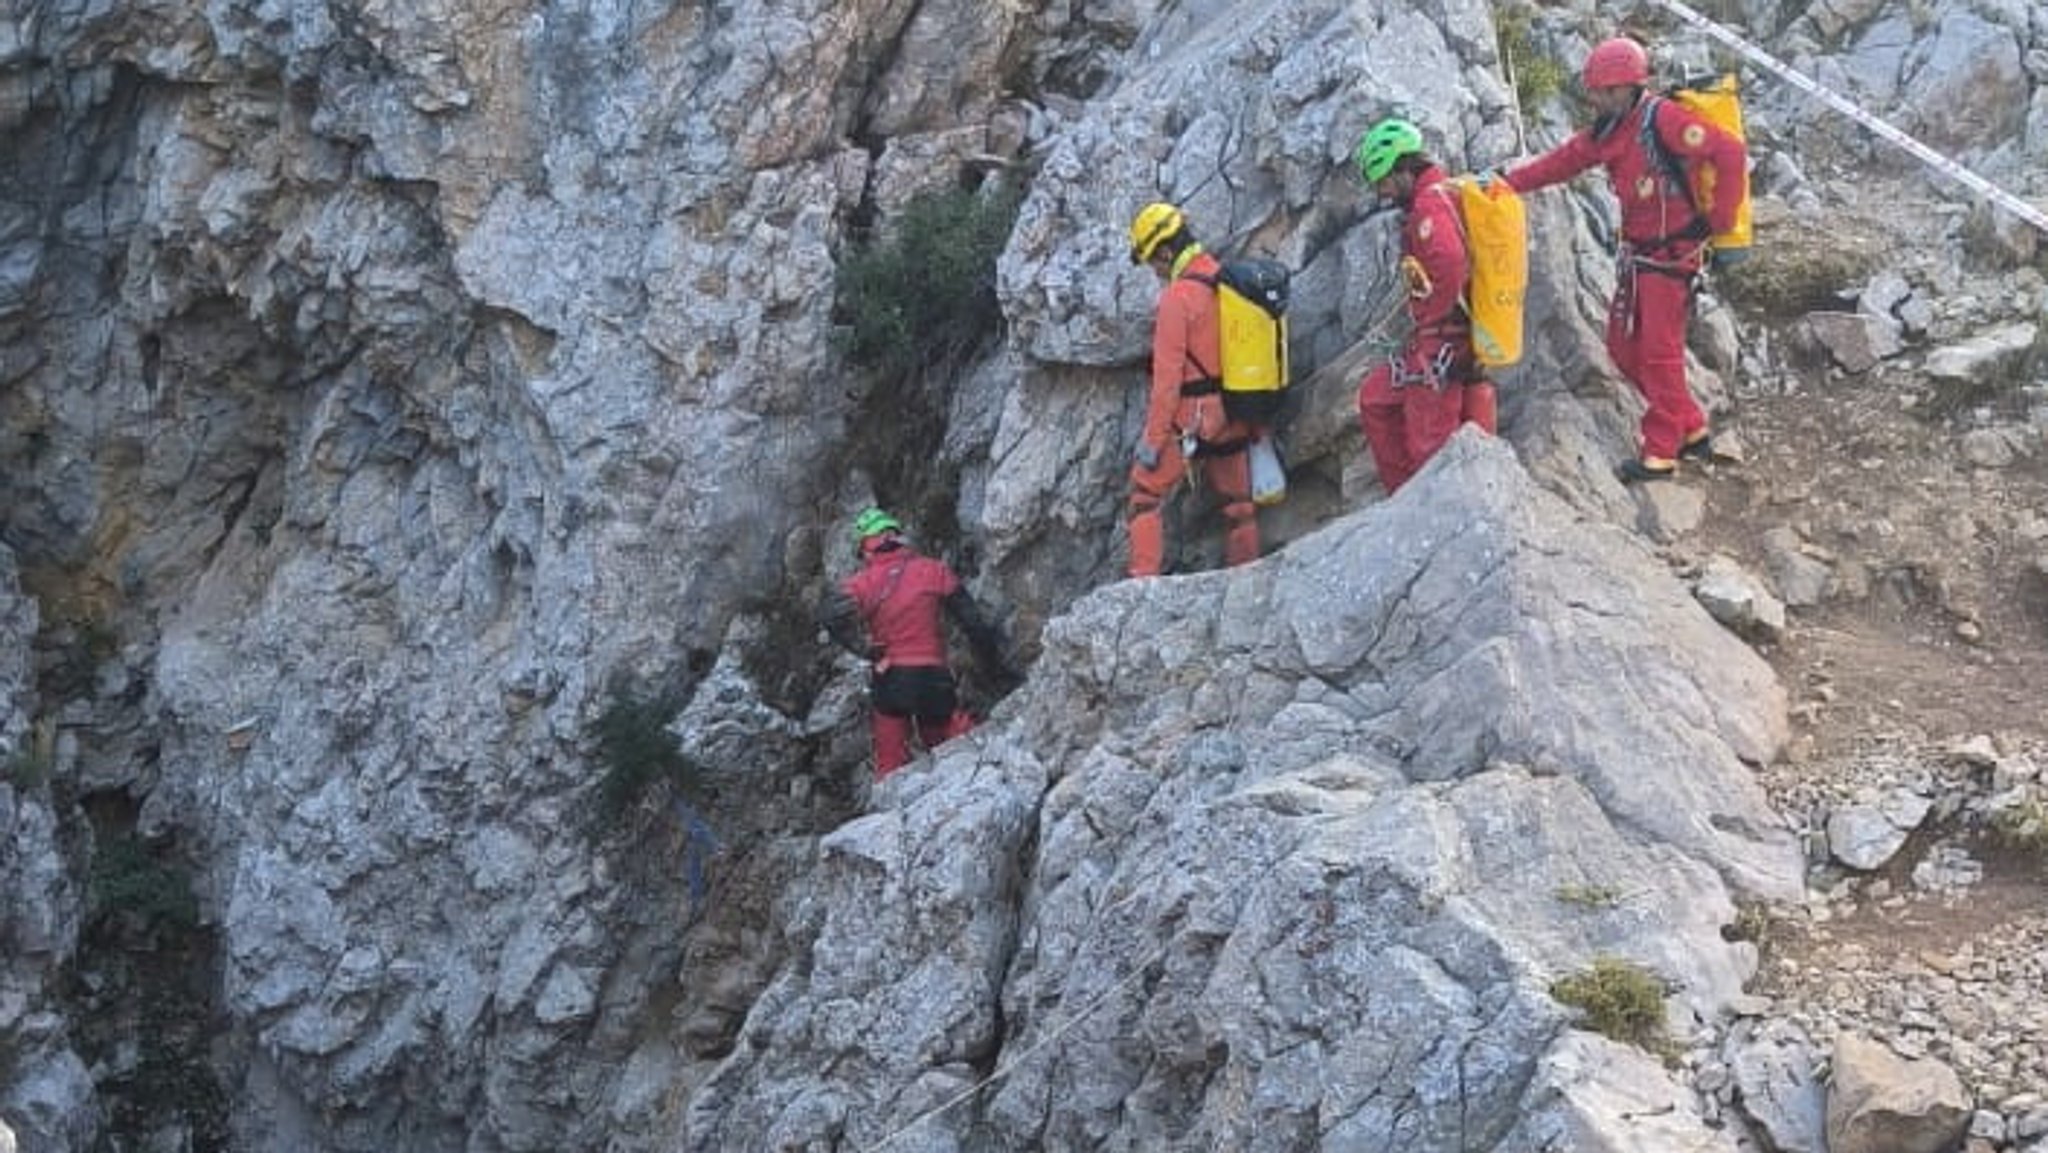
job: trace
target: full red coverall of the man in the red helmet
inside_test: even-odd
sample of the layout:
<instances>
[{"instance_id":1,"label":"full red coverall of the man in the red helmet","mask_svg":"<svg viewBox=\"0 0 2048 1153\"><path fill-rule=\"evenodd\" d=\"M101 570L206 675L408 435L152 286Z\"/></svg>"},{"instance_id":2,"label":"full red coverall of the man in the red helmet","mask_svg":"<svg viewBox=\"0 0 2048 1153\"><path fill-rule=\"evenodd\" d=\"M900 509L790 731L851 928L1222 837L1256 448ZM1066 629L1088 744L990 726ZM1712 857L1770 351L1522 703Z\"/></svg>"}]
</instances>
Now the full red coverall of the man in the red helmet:
<instances>
[{"instance_id":1,"label":"full red coverall of the man in the red helmet","mask_svg":"<svg viewBox=\"0 0 2048 1153\"><path fill-rule=\"evenodd\" d=\"M1612 125L1573 133L1550 152L1507 170L1507 184L1532 193L1604 164L1622 205L1622 250L1608 307L1608 356L1642 393L1642 463L1667 469L1681 444L1706 434L1706 414L1686 387L1686 317L1704 242L1735 223L1737 180L1716 182L1716 203L1694 211L1686 188L1642 145L1642 96ZM1743 141L1677 100L1657 100L1657 139L1690 174L1700 162L1747 172Z\"/></svg>"}]
</instances>

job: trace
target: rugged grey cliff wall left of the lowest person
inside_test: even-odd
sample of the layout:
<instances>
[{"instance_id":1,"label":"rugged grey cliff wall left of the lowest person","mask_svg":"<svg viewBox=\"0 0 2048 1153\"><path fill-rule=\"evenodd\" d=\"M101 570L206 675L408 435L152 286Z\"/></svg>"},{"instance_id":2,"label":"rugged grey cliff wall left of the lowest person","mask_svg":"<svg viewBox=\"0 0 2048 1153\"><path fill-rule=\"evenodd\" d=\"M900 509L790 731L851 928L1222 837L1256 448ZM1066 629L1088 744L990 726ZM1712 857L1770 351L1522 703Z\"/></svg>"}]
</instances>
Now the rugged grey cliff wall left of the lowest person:
<instances>
[{"instance_id":1,"label":"rugged grey cliff wall left of the lowest person","mask_svg":"<svg viewBox=\"0 0 2048 1153\"><path fill-rule=\"evenodd\" d=\"M788 639L862 399L831 340L848 219L1014 160L1001 70L1065 41L1018 12L0 18L4 530L63 590L51 629L117 649L41 707L92 735L68 788L201 862L244 1147L633 1141L618 1069L655 1104L690 1077L641 1044L649 1003L729 1034L770 915L737 897L834 813L788 752L827 661ZM664 801L592 829L614 674L797 733L698 758L745 748L719 788L766 797L707 813L750 846L723 903ZM70 948L76 887L47 807L0 809L33 850L12 993Z\"/></svg>"}]
</instances>

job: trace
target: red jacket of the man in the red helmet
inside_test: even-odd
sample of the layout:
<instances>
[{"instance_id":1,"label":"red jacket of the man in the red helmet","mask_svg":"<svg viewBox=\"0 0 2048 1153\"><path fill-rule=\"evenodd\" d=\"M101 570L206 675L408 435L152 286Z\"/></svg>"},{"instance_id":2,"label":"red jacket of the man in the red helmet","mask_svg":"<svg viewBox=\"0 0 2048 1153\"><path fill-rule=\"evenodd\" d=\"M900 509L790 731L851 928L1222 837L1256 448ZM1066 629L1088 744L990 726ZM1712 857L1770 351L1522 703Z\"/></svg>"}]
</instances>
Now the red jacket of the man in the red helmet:
<instances>
[{"instance_id":1,"label":"red jacket of the man in the red helmet","mask_svg":"<svg viewBox=\"0 0 2048 1153\"><path fill-rule=\"evenodd\" d=\"M1642 147L1642 111L1649 106L1649 96L1636 100L1636 106L1628 109L1620 123L1597 137L1593 129L1579 129L1550 152L1509 168L1507 184L1518 193L1534 193L1604 164L1614 195L1622 203L1622 240L1642 248L1675 238L1694 221L1694 207L1686 188L1679 188L1657 158ZM1743 141L1677 100L1657 100L1657 139L1686 172L1692 172L1700 162L1712 162L1720 172L1743 172L1749 164ZM1700 205L1700 211L1712 231L1726 231L1735 225L1735 197L1741 182L1720 180L1718 188L1726 195L1720 195L1712 205Z\"/></svg>"}]
</instances>

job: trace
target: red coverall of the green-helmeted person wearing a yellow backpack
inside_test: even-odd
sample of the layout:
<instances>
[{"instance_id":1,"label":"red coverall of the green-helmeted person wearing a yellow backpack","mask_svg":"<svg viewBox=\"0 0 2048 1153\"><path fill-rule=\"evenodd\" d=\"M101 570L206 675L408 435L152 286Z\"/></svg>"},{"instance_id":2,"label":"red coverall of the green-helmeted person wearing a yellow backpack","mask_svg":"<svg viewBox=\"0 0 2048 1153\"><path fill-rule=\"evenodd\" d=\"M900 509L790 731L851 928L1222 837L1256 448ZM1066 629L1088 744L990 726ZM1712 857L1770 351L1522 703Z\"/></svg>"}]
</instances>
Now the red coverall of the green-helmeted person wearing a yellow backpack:
<instances>
[{"instance_id":1,"label":"red coverall of the green-helmeted person wearing a yellow backpack","mask_svg":"<svg viewBox=\"0 0 2048 1153\"><path fill-rule=\"evenodd\" d=\"M1432 164L1415 174L1415 195L1401 223L1401 274L1415 330L1393 362L1372 369L1358 385L1358 422L1389 496L1458 430L1466 383L1481 379L1473 326L1458 303L1470 262L1454 195L1442 168ZM1491 414L1475 414L1475 420L1493 432Z\"/></svg>"}]
</instances>

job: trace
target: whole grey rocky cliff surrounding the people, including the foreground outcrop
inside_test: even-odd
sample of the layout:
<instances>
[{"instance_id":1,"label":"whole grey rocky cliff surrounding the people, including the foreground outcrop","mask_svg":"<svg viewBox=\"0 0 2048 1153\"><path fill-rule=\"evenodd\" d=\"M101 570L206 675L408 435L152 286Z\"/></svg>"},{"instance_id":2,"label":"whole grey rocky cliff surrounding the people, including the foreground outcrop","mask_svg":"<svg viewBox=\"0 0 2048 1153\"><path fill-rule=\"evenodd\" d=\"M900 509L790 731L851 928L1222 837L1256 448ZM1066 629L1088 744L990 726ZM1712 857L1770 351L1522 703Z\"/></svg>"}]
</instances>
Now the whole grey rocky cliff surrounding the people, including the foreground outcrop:
<instances>
[{"instance_id":1,"label":"whole grey rocky cliff surrounding the people, including the foreground outcrop","mask_svg":"<svg viewBox=\"0 0 2048 1153\"><path fill-rule=\"evenodd\" d=\"M2038 12L1745 8L1987 170L2048 139ZM1604 193L1534 205L1520 463L1466 444L1356 514L1393 221L1352 143L1391 111L1456 168L1554 139L1511 66L1612 27L1493 16L6 6L0 1120L33 1153L866 1147L1001 1069L905 1141L1536 1149L1683 1096L1544 981L1620 952L1679 1024L1726 1008L1731 893L1794 870L1743 776L1784 717L1608 526ZM1800 156L1868 150L1759 111L1786 205ZM856 371L848 254L961 188L1020 201L1004 330ZM1155 197L1298 270L1294 498L1253 571L1104 590ZM809 604L874 498L1036 668L868 799ZM686 772L608 805L621 700ZM1626 901L1554 907L1581 885ZM1688 1110L1642 1147L1718 1147Z\"/></svg>"}]
</instances>

